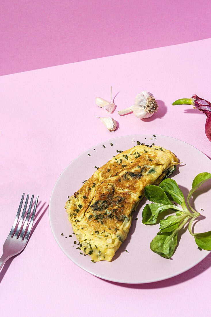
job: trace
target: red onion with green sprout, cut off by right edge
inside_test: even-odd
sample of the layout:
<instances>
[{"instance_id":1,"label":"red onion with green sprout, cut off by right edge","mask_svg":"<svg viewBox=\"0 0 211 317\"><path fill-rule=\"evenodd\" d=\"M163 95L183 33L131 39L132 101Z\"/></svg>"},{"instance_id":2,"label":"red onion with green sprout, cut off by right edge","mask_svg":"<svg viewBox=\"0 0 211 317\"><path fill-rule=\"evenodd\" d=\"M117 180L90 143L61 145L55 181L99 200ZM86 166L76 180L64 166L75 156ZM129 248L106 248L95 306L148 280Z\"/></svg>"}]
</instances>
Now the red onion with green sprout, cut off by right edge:
<instances>
[{"instance_id":1,"label":"red onion with green sprout, cut off by right edge","mask_svg":"<svg viewBox=\"0 0 211 317\"><path fill-rule=\"evenodd\" d=\"M206 114L207 119L205 123L205 134L208 140L211 142L211 102L193 95L192 98L182 98L178 99L172 104L175 105L193 105L195 109L202 111Z\"/></svg>"}]
</instances>

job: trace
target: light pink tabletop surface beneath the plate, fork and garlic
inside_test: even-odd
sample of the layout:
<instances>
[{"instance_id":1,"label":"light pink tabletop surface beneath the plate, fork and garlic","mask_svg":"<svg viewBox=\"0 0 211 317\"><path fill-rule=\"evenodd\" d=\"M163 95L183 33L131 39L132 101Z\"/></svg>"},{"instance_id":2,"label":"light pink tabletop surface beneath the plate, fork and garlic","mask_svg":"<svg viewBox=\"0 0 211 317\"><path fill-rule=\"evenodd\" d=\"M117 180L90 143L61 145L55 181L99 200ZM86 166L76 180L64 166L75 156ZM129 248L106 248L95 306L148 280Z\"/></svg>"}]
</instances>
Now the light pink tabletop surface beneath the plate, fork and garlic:
<instances>
[{"instance_id":1,"label":"light pink tabletop surface beneath the plate, fork and garlic","mask_svg":"<svg viewBox=\"0 0 211 317\"><path fill-rule=\"evenodd\" d=\"M56 244L48 203L63 169L99 142L127 134L163 134L190 143L209 157L206 116L190 106L171 106L192 94L211 100L211 39L45 68L0 78L0 245L12 226L23 191L39 194L33 234L26 249L0 272L3 316L209 316L211 256L189 271L151 284L101 280L72 263ZM117 110L147 89L160 109L151 118L112 117L116 132L96 116L94 103L119 92ZM173 150L173 149L172 149ZM194 162L193 162L194 164ZM58 211L59 212L59 211ZM141 268L140 268L141 269Z\"/></svg>"}]
</instances>

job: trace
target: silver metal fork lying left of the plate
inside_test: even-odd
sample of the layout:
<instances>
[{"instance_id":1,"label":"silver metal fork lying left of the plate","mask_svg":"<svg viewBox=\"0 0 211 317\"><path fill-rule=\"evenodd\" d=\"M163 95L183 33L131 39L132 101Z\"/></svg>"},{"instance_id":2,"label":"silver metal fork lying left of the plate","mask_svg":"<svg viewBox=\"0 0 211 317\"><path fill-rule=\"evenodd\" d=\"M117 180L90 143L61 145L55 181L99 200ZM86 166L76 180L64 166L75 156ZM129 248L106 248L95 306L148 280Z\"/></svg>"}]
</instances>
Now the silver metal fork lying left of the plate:
<instances>
[{"instance_id":1,"label":"silver metal fork lying left of the plate","mask_svg":"<svg viewBox=\"0 0 211 317\"><path fill-rule=\"evenodd\" d=\"M23 193L23 195L22 195L21 202L20 202L20 205L19 205L19 208L18 208L18 212L17 212L16 218L15 218L15 221L13 223L12 229L10 230L9 236L7 237L7 239L5 240L5 242L3 244L3 255L0 258L0 270L3 267L4 263L8 259L10 259L10 257L15 256L16 254L20 253L25 248L25 246L26 246L26 244L27 244L27 242L29 240L29 236L30 236L30 233L31 233L33 221L34 221L34 218L35 218L35 212L36 212L36 208L37 208L38 196L36 197L35 206L34 206L34 209L33 209L31 220L29 222L29 216L30 216L30 213L31 213L31 207L32 207L33 199L34 199L34 195L32 195L31 201L30 201L30 204L29 204L29 210L28 210L26 219L25 219L24 224L23 224L23 218L24 218L24 215L25 215L25 212L26 212L26 208L27 208L27 204L28 204L28 200L29 200L29 194L27 194L26 202L25 202L25 205L23 207L23 212L22 212L21 218L19 220L18 226L16 228L16 225L17 225L17 222L18 222L18 218L19 218L19 215L20 215L20 212L21 212L22 204L23 204L24 194L25 193ZM26 232L26 235L24 236L25 231L26 231L26 227L28 225L28 222L29 222L29 227L28 227L28 230ZM23 224L23 227L22 227L22 224ZM22 228L22 230L21 230L21 228Z\"/></svg>"}]
</instances>

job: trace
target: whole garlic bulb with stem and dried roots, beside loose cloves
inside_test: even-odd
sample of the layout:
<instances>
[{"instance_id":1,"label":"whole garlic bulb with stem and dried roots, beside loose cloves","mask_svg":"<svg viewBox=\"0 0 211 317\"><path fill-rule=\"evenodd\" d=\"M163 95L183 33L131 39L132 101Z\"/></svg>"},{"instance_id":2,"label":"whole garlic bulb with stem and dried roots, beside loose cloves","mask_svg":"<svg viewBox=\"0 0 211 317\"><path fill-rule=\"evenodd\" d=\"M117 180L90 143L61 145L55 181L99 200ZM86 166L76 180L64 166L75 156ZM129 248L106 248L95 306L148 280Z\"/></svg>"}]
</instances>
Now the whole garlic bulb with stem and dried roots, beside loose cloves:
<instances>
[{"instance_id":1,"label":"whole garlic bulb with stem and dried roots, beside loose cloves","mask_svg":"<svg viewBox=\"0 0 211 317\"><path fill-rule=\"evenodd\" d=\"M118 114L121 116L133 112L137 118L143 119L151 117L157 110L158 105L153 94L143 90L142 93L137 94L133 106L118 111Z\"/></svg>"}]
</instances>

